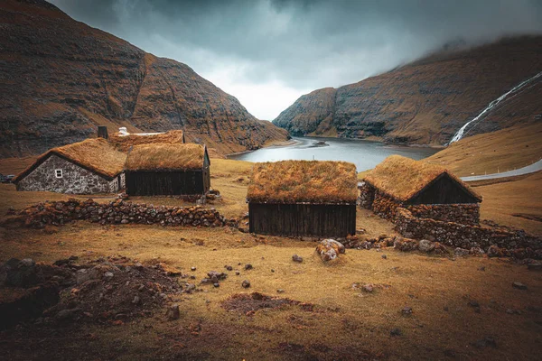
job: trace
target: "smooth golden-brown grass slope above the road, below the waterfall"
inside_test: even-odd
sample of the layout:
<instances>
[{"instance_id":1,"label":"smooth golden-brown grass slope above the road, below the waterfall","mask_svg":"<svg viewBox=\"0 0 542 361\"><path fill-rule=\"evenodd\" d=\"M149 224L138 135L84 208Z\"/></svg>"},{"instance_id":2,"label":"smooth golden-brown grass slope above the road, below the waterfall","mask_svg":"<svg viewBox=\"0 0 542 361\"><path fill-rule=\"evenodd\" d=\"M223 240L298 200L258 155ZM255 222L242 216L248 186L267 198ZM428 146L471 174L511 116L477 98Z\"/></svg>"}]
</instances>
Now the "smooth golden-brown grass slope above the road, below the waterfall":
<instances>
[{"instance_id":1,"label":"smooth golden-brown grass slope above the road, below the waterfall","mask_svg":"<svg viewBox=\"0 0 542 361\"><path fill-rule=\"evenodd\" d=\"M540 139L542 122L516 125L464 138L425 162L444 166L461 177L511 171L542 158Z\"/></svg>"}]
</instances>

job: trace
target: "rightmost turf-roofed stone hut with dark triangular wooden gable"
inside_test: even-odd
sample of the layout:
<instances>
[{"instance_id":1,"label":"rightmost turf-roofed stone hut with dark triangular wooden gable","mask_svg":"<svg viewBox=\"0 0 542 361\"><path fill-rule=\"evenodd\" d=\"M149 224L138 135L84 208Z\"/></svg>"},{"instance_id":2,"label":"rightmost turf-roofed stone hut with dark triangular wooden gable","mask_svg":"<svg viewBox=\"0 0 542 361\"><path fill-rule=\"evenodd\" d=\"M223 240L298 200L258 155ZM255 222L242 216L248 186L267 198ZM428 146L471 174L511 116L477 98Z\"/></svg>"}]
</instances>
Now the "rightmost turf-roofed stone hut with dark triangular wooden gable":
<instances>
[{"instance_id":1,"label":"rightmost turf-roofed stone hut with dark triangular wooden gable","mask_svg":"<svg viewBox=\"0 0 542 361\"><path fill-rule=\"evenodd\" d=\"M360 206L394 219L406 208L416 218L464 225L480 222L481 196L441 166L391 155L364 177Z\"/></svg>"}]
</instances>

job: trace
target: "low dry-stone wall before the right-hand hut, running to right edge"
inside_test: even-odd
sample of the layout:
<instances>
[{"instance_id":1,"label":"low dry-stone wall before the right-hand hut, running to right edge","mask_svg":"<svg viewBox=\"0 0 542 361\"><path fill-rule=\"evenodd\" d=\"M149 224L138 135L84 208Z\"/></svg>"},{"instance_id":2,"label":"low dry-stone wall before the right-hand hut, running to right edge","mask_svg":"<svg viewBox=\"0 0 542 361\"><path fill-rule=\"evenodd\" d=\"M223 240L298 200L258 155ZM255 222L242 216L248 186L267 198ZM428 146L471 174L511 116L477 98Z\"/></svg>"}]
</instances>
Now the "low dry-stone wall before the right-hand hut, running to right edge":
<instances>
[{"instance_id":1,"label":"low dry-stone wall before the right-hand hut, running to right edge","mask_svg":"<svg viewBox=\"0 0 542 361\"><path fill-rule=\"evenodd\" d=\"M487 252L491 245L505 249L542 249L542 240L523 230L463 225L430 218L416 218L406 208L396 208L394 223L397 231L409 238L436 240L444 245L471 249L481 247Z\"/></svg>"}]
</instances>

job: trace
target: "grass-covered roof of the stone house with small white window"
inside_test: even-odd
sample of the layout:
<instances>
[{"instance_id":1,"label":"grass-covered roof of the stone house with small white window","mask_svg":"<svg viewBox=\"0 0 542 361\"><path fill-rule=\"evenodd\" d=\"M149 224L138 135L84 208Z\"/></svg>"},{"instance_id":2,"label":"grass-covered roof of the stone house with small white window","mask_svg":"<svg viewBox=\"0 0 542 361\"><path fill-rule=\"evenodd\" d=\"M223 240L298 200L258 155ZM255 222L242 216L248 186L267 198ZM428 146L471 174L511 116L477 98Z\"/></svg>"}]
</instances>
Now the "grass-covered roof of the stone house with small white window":
<instances>
[{"instance_id":1,"label":"grass-covered roof of the stone house with small white window","mask_svg":"<svg viewBox=\"0 0 542 361\"><path fill-rule=\"evenodd\" d=\"M82 168L98 173L108 179L116 177L124 168L126 154L117 151L103 138L87 139L79 143L62 145L43 153L36 162L20 173L14 181L22 180L51 154L56 154Z\"/></svg>"}]
</instances>

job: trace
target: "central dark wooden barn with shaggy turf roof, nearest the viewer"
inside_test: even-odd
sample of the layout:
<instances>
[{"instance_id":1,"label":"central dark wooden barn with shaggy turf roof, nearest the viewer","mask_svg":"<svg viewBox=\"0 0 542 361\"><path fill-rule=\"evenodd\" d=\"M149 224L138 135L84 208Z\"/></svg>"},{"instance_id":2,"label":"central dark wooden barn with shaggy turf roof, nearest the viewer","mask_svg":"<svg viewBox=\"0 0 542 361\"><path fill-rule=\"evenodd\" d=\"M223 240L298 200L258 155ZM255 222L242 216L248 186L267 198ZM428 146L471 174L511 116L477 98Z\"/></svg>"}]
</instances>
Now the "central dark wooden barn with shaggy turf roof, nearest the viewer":
<instances>
[{"instance_id":1,"label":"central dark wooden barn with shaggy turf roof, nearest the viewer","mask_svg":"<svg viewBox=\"0 0 542 361\"><path fill-rule=\"evenodd\" d=\"M257 163L248 185L251 233L344 237L356 233L356 166L348 162Z\"/></svg>"}]
</instances>

